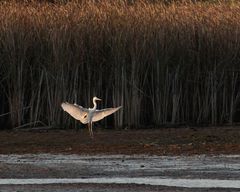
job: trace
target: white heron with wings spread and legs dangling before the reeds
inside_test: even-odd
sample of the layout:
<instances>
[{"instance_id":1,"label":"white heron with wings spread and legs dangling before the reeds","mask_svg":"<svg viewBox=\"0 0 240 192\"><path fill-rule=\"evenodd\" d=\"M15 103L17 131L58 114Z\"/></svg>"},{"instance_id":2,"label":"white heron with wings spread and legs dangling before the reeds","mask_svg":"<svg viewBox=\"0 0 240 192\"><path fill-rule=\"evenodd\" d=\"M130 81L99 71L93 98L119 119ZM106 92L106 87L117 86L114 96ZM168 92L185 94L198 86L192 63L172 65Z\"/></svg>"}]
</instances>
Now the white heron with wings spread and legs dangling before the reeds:
<instances>
[{"instance_id":1,"label":"white heron with wings spread and legs dangling before the reeds","mask_svg":"<svg viewBox=\"0 0 240 192\"><path fill-rule=\"evenodd\" d=\"M92 131L92 123L96 121L100 121L104 117L107 117L117 110L119 110L122 106L115 107L115 108L106 108L106 109L97 109L96 101L101 101L101 99L97 97L93 97L93 108L84 108L80 105L70 104L68 102L64 102L61 104L61 107L64 111L69 113L73 118L79 120L83 124L88 124L88 130L90 137L93 138L93 131Z\"/></svg>"}]
</instances>

